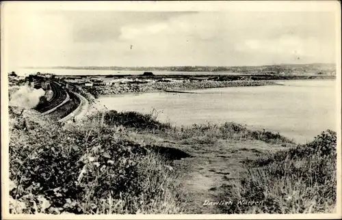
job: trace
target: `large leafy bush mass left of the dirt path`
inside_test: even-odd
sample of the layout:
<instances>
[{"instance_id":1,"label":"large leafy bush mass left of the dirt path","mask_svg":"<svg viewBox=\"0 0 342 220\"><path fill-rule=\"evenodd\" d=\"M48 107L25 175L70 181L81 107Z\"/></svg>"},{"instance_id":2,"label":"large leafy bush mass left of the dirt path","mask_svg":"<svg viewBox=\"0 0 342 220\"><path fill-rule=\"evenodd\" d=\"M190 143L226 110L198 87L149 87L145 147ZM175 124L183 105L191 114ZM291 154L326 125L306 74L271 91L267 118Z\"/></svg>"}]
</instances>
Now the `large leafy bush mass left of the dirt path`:
<instances>
[{"instance_id":1,"label":"large leafy bush mass left of the dirt path","mask_svg":"<svg viewBox=\"0 0 342 220\"><path fill-rule=\"evenodd\" d=\"M10 123L11 213L181 212L166 161L120 127L84 123Z\"/></svg>"}]
</instances>

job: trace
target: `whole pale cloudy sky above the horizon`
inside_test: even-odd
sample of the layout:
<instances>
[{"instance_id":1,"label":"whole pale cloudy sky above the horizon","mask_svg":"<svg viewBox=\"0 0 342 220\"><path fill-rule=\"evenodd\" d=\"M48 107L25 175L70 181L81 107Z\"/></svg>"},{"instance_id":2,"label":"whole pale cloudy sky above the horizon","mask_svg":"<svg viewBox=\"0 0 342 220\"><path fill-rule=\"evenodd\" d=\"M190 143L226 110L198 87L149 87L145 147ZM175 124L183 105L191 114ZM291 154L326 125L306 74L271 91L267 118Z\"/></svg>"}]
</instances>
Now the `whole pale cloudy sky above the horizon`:
<instances>
[{"instance_id":1,"label":"whole pale cloudy sky above the horizon","mask_svg":"<svg viewBox=\"0 0 342 220\"><path fill-rule=\"evenodd\" d=\"M336 60L336 10L55 7L7 12L3 40L9 67L254 66Z\"/></svg>"}]
</instances>

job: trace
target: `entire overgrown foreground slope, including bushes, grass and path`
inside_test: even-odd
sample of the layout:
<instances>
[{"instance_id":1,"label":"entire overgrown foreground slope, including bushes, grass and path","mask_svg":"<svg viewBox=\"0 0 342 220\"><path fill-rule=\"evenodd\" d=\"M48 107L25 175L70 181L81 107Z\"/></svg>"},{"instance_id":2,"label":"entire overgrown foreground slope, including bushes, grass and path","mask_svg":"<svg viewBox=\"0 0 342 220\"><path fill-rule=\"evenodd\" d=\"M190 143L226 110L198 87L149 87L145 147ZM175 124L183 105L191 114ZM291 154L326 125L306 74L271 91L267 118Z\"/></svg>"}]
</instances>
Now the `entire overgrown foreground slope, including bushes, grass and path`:
<instances>
[{"instance_id":1,"label":"entire overgrown foreground slope, including bushes, grass and path","mask_svg":"<svg viewBox=\"0 0 342 220\"><path fill-rule=\"evenodd\" d=\"M116 111L97 113L82 125L69 127L40 121L41 124L25 131L22 121L21 116L11 120L11 195L16 199L12 205L35 200L42 206L44 197L43 201L49 200L52 207L13 208L13 212L241 213L321 212L334 208L333 133L332 139L328 135L311 146L328 146L330 151L311 150L315 152L310 153L311 157L287 157L298 152L291 140L234 123L175 128L157 122L153 114ZM329 143L324 142L327 139L331 139ZM168 148L183 150L191 156L185 154L172 161L165 159L165 152L156 155L150 151ZM277 153L279 150L285 151ZM274 156L279 154L283 156ZM246 164L246 159L257 162ZM332 165L322 163L326 159ZM79 180L84 167L88 172ZM322 171L322 179L317 179L317 170ZM297 171L297 176L278 175L278 171ZM315 178L309 183L306 179L296 182L304 174L306 179ZM266 180L275 181L272 184ZM314 194L322 184L327 187ZM287 203L293 191L301 196ZM279 193L283 200L274 206ZM272 200L272 204L259 209L203 206L205 200Z\"/></svg>"}]
</instances>

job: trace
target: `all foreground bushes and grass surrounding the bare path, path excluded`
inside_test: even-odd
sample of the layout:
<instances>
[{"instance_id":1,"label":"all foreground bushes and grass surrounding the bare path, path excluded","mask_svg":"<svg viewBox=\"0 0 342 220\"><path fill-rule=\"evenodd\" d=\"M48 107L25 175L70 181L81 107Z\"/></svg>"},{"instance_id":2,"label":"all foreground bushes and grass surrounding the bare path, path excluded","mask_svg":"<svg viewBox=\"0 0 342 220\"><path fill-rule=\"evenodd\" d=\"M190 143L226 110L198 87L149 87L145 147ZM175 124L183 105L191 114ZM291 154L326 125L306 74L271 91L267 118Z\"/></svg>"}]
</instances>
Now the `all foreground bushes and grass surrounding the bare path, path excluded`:
<instances>
[{"instance_id":1,"label":"all foreground bushes and grass surrounding the bare path, path excluded","mask_svg":"<svg viewBox=\"0 0 342 220\"><path fill-rule=\"evenodd\" d=\"M155 113L106 111L64 126L34 111L18 115L11 109L10 115L14 214L186 212L194 204L187 202L182 177L140 139L146 135L188 146L235 139L286 149L246 161L244 179L223 187L224 200L262 200L265 206L224 206L221 212L330 212L336 202L336 133L330 130L291 148L295 143L279 134L235 123L174 127L158 122Z\"/></svg>"}]
</instances>

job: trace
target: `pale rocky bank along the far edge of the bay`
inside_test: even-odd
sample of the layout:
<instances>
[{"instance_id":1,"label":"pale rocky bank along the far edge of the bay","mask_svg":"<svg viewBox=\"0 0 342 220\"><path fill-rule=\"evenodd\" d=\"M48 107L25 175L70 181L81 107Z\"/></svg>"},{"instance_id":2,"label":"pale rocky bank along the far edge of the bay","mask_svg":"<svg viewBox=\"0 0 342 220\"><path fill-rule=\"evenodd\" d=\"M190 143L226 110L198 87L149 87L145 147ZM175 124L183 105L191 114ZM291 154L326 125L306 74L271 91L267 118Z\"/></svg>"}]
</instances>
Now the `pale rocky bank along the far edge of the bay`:
<instances>
[{"instance_id":1,"label":"pale rocky bank along the far edge of the bay","mask_svg":"<svg viewBox=\"0 0 342 220\"><path fill-rule=\"evenodd\" d=\"M157 92L164 90L200 90L215 87L278 85L274 81L171 81L150 83L122 83L87 88L95 97L109 94Z\"/></svg>"}]
</instances>

